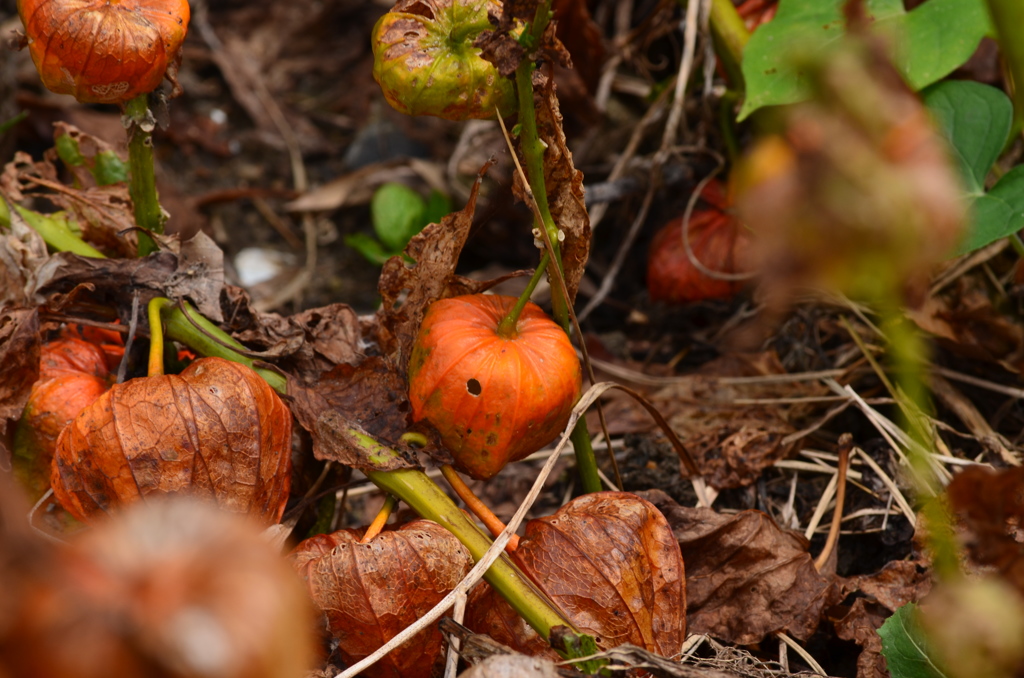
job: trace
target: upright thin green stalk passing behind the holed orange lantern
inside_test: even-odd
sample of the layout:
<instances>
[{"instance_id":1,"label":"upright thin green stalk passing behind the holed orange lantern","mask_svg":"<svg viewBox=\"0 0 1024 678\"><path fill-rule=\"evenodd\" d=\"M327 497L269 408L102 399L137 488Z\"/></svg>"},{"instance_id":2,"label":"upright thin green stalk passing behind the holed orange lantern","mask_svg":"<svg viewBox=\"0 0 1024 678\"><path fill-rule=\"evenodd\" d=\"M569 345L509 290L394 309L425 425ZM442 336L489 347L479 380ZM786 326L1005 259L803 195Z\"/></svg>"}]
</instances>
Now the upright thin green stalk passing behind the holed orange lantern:
<instances>
[{"instance_id":1,"label":"upright thin green stalk passing behind the holed orange lantern","mask_svg":"<svg viewBox=\"0 0 1024 678\"><path fill-rule=\"evenodd\" d=\"M540 42L550 18L551 2L547 0L537 8L534 24L530 26L526 38L529 45L536 45ZM555 265L561 272L564 267L558 247L558 226L555 224L548 207L548 190L544 181L545 144L537 130L537 110L534 107L534 62L524 58L515 74L516 93L519 97L519 144L525 161L529 189L534 194L534 202L541 215L541 223L537 226L547 231ZM561 290L557 289L555 285L551 286L551 306L555 321L565 330L566 334L569 334L568 299L561 294ZM572 429L572 448L575 452L577 469L580 472L583 491L585 493L600 492L601 478L597 472L597 458L594 456L590 431L587 430L587 420L583 417L577 421L575 428Z\"/></svg>"}]
</instances>

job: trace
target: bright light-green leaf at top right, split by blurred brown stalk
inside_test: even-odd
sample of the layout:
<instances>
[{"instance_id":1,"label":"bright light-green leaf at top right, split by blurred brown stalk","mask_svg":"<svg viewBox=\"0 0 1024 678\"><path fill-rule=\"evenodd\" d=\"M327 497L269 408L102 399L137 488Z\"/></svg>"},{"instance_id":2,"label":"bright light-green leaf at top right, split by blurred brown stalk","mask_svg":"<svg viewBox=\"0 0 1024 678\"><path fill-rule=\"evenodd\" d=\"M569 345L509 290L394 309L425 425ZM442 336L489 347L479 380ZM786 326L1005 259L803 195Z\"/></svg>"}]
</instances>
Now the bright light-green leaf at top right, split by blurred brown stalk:
<instances>
[{"instance_id":1,"label":"bright light-green leaf at top right, split by blurred brown stalk","mask_svg":"<svg viewBox=\"0 0 1024 678\"><path fill-rule=\"evenodd\" d=\"M807 57L845 33L845 0L779 0L775 17L751 37L743 50L746 98L742 120L765 105L809 96L795 56ZM868 0L872 30L893 45L893 60L907 83L921 89L951 73L989 32L983 0L928 0L905 11L901 0Z\"/></svg>"}]
</instances>

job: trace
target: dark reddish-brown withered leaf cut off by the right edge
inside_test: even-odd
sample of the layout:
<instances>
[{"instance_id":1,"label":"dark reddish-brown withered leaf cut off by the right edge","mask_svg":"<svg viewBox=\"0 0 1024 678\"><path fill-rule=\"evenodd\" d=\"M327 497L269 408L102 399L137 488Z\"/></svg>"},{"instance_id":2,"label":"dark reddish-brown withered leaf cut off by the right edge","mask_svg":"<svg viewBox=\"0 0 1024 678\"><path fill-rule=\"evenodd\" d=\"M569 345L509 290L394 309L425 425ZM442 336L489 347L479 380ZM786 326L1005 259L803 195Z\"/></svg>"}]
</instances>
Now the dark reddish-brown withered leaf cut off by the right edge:
<instances>
[{"instance_id":1,"label":"dark reddish-brown withered leaf cut off by the right edge","mask_svg":"<svg viewBox=\"0 0 1024 678\"><path fill-rule=\"evenodd\" d=\"M968 466L946 492L965 528L962 539L979 565L994 567L1024 592L1024 467Z\"/></svg>"}]
</instances>

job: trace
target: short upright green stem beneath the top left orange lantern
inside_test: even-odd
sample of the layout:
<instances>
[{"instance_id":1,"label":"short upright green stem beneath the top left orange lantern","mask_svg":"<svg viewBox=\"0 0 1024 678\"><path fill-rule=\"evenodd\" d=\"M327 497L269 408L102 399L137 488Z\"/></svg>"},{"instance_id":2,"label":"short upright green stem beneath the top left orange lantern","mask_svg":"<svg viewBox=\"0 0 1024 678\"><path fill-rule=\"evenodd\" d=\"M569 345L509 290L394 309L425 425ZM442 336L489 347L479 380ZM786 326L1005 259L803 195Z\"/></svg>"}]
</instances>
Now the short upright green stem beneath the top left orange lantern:
<instances>
[{"instance_id":1,"label":"short upright green stem beneath the top left orange lantern","mask_svg":"<svg viewBox=\"0 0 1024 678\"><path fill-rule=\"evenodd\" d=\"M125 104L128 123L128 163L131 166L132 205L135 207L135 225L143 230L138 235L138 254L153 254L159 248L150 234L164 232L164 210L157 197L157 176L153 162L153 116L145 94L139 94Z\"/></svg>"}]
</instances>

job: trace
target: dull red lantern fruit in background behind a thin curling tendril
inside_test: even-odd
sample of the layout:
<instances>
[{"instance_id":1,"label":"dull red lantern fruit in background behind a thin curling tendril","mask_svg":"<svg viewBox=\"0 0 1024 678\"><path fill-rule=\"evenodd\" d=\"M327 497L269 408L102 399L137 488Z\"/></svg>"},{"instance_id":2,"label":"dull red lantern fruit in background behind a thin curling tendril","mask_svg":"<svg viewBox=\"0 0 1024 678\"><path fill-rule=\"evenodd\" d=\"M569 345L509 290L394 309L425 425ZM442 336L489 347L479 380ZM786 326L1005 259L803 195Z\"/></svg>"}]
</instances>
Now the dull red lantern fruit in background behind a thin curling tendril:
<instances>
[{"instance_id":1,"label":"dull red lantern fruit in background behind a thin curling tendril","mask_svg":"<svg viewBox=\"0 0 1024 678\"><path fill-rule=\"evenodd\" d=\"M651 301L685 304L703 299L725 299L739 291L743 282L716 278L698 267L724 277L741 273L750 247L743 225L726 212L728 200L722 184L711 181L700 194L709 207L690 215L689 246L683 240L683 217L673 219L654 235L647 257L647 291Z\"/></svg>"}]
</instances>

